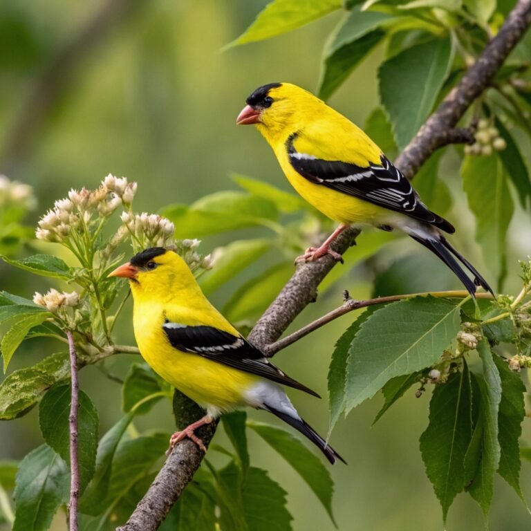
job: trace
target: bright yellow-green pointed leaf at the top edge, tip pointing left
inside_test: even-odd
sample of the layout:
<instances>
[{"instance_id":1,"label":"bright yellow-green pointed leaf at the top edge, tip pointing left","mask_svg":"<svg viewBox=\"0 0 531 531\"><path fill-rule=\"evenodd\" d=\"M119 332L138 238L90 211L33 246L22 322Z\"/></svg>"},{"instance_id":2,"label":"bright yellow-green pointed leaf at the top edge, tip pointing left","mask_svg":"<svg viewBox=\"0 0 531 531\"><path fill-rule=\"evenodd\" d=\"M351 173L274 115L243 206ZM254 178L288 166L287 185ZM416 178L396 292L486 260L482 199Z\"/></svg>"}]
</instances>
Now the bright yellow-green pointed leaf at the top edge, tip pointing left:
<instances>
[{"instance_id":1,"label":"bright yellow-green pointed leaf at the top edge, tip pointing left","mask_svg":"<svg viewBox=\"0 0 531 531\"><path fill-rule=\"evenodd\" d=\"M261 41L304 26L341 7L341 0L272 0L230 46Z\"/></svg>"}]
</instances>

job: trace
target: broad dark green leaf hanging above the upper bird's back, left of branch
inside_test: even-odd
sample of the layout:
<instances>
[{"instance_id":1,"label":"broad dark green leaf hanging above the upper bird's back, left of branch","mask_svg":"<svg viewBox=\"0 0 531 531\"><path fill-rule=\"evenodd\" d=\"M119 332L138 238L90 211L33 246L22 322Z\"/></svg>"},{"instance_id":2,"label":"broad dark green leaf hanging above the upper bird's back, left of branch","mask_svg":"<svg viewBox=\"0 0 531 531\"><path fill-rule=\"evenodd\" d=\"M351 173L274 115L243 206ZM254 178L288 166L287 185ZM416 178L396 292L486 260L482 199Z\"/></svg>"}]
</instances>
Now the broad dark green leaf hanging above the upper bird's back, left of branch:
<instances>
[{"instance_id":1,"label":"broad dark green leaf hanging above the upper bird's back, left of branch","mask_svg":"<svg viewBox=\"0 0 531 531\"><path fill-rule=\"evenodd\" d=\"M449 37L417 44L379 68L380 101L399 149L416 135L434 106L454 56Z\"/></svg>"}]
</instances>

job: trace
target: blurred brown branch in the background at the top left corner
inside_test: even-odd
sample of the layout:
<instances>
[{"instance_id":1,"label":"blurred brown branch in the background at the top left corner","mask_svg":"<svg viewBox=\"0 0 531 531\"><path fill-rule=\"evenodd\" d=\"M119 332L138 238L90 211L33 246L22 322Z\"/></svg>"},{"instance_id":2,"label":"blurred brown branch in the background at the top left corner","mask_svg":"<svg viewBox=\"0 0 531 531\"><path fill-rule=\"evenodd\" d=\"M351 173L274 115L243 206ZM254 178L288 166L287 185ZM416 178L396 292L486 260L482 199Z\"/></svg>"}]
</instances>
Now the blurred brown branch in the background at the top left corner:
<instances>
[{"instance_id":1,"label":"blurred brown branch in the background at the top left corner","mask_svg":"<svg viewBox=\"0 0 531 531\"><path fill-rule=\"evenodd\" d=\"M85 26L50 59L35 80L26 101L6 136L0 153L2 171L8 172L24 158L36 131L56 108L82 58L106 33L140 4L140 0L106 0Z\"/></svg>"}]
</instances>

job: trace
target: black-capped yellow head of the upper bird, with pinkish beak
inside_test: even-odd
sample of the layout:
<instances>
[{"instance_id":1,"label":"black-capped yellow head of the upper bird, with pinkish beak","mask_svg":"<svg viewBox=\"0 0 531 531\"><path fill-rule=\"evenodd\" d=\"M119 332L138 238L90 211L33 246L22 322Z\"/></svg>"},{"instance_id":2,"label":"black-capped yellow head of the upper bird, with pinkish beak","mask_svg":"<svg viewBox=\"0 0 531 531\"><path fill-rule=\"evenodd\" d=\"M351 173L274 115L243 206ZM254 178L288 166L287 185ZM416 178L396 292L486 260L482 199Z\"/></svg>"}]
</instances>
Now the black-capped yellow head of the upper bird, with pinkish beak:
<instances>
[{"instance_id":1,"label":"black-capped yellow head of the upper bird, with pinkish beak","mask_svg":"<svg viewBox=\"0 0 531 531\"><path fill-rule=\"evenodd\" d=\"M236 124L255 124L267 140L290 135L302 127L304 117L315 116L324 104L319 98L291 83L260 86L245 100Z\"/></svg>"}]
</instances>

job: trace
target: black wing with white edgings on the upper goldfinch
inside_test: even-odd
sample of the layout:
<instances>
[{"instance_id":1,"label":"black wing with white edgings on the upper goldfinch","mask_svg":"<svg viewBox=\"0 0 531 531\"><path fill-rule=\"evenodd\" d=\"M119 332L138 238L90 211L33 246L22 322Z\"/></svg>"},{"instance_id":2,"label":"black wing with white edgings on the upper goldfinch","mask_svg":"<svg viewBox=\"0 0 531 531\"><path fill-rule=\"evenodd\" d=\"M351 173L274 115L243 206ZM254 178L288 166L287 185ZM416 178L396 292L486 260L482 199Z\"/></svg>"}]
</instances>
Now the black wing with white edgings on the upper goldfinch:
<instances>
[{"instance_id":1,"label":"black wing with white edgings on the upper goldfinch","mask_svg":"<svg viewBox=\"0 0 531 531\"><path fill-rule=\"evenodd\" d=\"M288 157L295 171L312 183L401 212L445 232L455 232L451 223L427 209L409 180L384 155L380 156L381 164L367 167L341 160L324 160L299 153L293 145L297 136L298 133L291 135L286 142Z\"/></svg>"}]
</instances>

